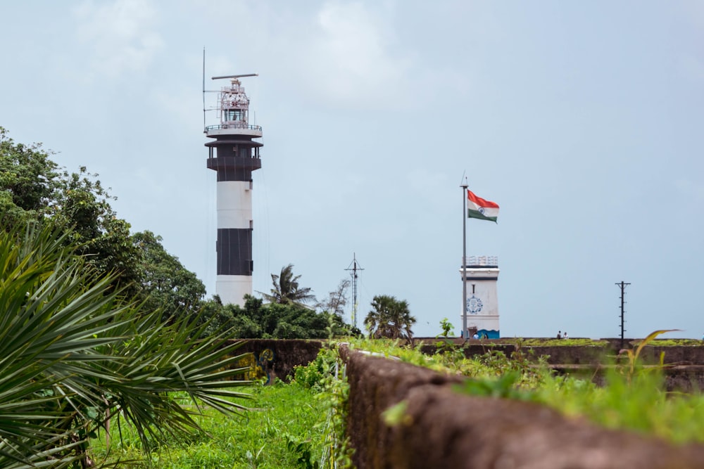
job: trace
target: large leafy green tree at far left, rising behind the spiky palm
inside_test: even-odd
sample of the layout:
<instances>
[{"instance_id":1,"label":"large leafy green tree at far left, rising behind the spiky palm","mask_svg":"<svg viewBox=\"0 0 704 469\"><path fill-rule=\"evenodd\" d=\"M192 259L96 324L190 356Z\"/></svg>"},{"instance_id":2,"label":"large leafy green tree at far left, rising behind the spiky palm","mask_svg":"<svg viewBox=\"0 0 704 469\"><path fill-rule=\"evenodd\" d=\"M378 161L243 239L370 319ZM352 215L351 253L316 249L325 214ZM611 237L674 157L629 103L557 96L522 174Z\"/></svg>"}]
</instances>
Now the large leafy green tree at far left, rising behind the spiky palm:
<instances>
[{"instance_id":1,"label":"large leafy green tree at far left, rising behind the spiky palm","mask_svg":"<svg viewBox=\"0 0 704 469\"><path fill-rule=\"evenodd\" d=\"M139 291L137 250L130 240L130 224L119 219L97 174L86 167L69 173L50 159L40 143L15 143L0 127L0 222L24 226L27 221L51 221L70 232L65 242L99 274L111 276L125 295Z\"/></svg>"}]
</instances>

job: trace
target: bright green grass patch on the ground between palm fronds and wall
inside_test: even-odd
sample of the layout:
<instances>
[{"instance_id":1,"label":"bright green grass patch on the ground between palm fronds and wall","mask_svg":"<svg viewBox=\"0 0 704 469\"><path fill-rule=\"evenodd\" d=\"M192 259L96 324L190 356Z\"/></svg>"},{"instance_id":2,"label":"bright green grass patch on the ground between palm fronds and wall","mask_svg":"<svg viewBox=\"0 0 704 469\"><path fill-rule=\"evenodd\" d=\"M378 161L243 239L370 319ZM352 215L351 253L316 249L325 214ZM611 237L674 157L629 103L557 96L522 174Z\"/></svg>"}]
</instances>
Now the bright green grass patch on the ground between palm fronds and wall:
<instances>
[{"instance_id":1,"label":"bright green grass patch on the ground between palm fronds and wall","mask_svg":"<svg viewBox=\"0 0 704 469\"><path fill-rule=\"evenodd\" d=\"M239 388L243 390L243 388ZM172 442L168 447L151 451L150 466L137 463L137 468L209 469L209 468L305 468L298 461L320 460L325 421L325 404L315 399L312 390L292 383L244 388L253 399L241 401L252 410L244 416L227 417L206 409L196 421L205 432L194 434L188 442ZM111 448L107 461L126 465L124 461L142 458L139 439L132 429L122 427L122 443L113 423ZM293 444L289 444L289 439ZM104 434L94 445L96 461L106 458ZM310 451L310 455L303 454Z\"/></svg>"}]
</instances>

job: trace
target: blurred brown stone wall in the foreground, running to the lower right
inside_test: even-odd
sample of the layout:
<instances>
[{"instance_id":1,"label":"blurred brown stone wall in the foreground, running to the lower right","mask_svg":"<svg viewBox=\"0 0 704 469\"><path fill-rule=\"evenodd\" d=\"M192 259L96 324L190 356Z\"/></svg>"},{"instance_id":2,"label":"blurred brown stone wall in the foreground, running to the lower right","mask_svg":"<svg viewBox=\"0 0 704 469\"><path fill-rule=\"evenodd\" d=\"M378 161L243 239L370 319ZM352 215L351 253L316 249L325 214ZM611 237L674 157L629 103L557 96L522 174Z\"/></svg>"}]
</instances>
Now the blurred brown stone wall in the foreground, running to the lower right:
<instances>
[{"instance_id":1,"label":"blurred brown stone wall in the foreground, running to the lower right","mask_svg":"<svg viewBox=\"0 0 704 469\"><path fill-rule=\"evenodd\" d=\"M358 468L693 469L704 446L604 430L537 404L470 397L463 378L341 347L350 383L348 436ZM382 412L405 400L389 427Z\"/></svg>"}]
</instances>

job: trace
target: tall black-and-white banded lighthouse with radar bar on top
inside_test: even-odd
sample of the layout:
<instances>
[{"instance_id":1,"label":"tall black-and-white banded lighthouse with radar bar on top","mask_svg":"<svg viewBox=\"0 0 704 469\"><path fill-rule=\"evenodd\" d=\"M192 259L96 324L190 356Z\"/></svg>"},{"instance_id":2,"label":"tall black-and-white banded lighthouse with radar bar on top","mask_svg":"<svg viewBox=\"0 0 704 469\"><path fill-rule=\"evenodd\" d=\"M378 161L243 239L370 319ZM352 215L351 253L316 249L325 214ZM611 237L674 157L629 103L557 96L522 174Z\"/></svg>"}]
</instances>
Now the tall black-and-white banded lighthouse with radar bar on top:
<instances>
[{"instance_id":1,"label":"tall black-and-white banded lighthouse with radar bar on top","mask_svg":"<svg viewBox=\"0 0 704 469\"><path fill-rule=\"evenodd\" d=\"M215 251L218 276L215 293L222 304L244 306L244 295L252 294L252 172L262 167L256 141L262 128L249 124L249 98L240 82L248 75L228 75L213 79L229 79L230 84L218 92L217 111L220 123L209 125L208 169L218 173L217 210L218 240Z\"/></svg>"}]
</instances>

